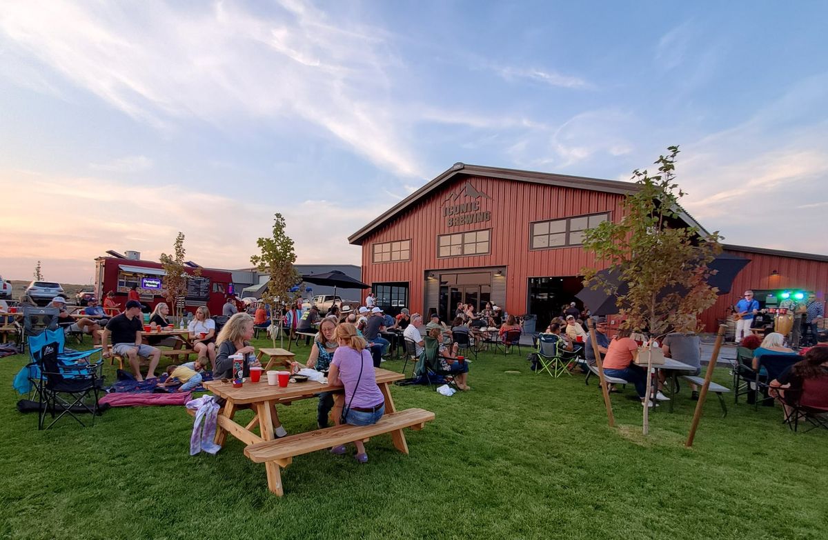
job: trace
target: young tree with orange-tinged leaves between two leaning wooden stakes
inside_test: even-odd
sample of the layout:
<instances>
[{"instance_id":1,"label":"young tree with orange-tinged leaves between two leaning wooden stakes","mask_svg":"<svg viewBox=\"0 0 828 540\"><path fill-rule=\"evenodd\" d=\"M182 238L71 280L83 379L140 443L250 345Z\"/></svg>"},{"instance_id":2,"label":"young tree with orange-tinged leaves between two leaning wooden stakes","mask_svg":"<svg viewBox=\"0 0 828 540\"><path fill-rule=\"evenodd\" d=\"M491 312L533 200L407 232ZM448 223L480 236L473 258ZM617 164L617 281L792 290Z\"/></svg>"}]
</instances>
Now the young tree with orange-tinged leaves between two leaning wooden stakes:
<instances>
[{"instance_id":1,"label":"young tree with orange-tinged leaves between two leaning wooden stakes","mask_svg":"<svg viewBox=\"0 0 828 540\"><path fill-rule=\"evenodd\" d=\"M685 193L676 184L679 149L667 150L655 162L657 174L633 171L638 189L623 201L623 218L586 231L583 241L585 250L609 263L614 276L608 280L595 268L585 268L585 286L617 295L619 312L627 317L622 326L651 338L686 325L688 316L695 320L715 303L717 290L707 284L707 265L721 253L718 232L705 234L681 221L678 203ZM619 290L621 283L625 287Z\"/></svg>"}]
</instances>

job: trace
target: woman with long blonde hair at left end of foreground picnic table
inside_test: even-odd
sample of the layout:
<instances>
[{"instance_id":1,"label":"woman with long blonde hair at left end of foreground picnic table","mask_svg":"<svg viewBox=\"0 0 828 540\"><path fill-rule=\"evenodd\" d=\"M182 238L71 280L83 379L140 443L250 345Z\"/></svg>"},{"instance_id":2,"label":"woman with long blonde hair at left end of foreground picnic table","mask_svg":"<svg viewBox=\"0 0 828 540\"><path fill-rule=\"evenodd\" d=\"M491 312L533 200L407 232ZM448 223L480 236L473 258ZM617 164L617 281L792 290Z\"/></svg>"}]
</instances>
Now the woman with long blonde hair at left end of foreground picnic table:
<instances>
[{"instance_id":1,"label":"woman with long blonde hair at left end of foreground picnic table","mask_svg":"<svg viewBox=\"0 0 828 540\"><path fill-rule=\"evenodd\" d=\"M250 345L250 340L253 339L253 317L247 313L237 313L230 317L219 332L216 338L216 355L215 367L213 369L213 379L220 380L223 378L233 378L233 359L230 358L233 354L243 354L245 361L242 363L242 376L250 376L250 368L261 368L262 364L256 359L256 349ZM270 416L272 418L274 435L281 438L287 435L285 428L282 427L282 422L279 422L279 415L276 411L276 405L271 404Z\"/></svg>"}]
</instances>

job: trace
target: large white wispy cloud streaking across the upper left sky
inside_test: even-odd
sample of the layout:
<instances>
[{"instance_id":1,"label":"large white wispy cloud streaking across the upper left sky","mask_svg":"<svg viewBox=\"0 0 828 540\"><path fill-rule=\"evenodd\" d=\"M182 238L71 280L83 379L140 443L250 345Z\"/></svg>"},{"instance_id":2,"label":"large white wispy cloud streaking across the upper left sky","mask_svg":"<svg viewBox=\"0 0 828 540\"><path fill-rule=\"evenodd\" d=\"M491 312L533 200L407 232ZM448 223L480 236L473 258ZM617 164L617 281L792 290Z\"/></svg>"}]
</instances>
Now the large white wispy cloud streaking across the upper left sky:
<instances>
[{"instance_id":1,"label":"large white wispy cloud streaking across the upper left sky","mask_svg":"<svg viewBox=\"0 0 828 540\"><path fill-rule=\"evenodd\" d=\"M210 12L158 2L12 2L0 10L0 46L35 56L157 128L182 118L225 127L239 115L293 116L378 166L422 176L387 99L385 71L396 60L384 32L340 25L298 0L278 2L274 11L253 16L224 2Z\"/></svg>"}]
</instances>

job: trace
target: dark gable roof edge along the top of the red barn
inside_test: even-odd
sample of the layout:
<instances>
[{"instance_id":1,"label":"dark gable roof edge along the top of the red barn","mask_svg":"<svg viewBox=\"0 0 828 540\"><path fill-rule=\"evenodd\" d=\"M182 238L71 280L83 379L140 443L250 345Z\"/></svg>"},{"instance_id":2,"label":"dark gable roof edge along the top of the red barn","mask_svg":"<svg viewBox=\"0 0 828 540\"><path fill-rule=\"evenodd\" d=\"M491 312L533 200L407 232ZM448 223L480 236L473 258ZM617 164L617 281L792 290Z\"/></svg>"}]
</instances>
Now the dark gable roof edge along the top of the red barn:
<instances>
[{"instance_id":1,"label":"dark gable roof edge along the top of the red barn","mask_svg":"<svg viewBox=\"0 0 828 540\"><path fill-rule=\"evenodd\" d=\"M426 196L440 190L440 188L445 186L445 184L455 181L455 179L459 179L461 177L468 178L469 176L486 176L502 180L530 182L532 184L543 184L546 186L570 187L579 190L601 191L604 193L616 193L619 195L627 195L630 192L641 189L632 182L601 180L599 178L588 178L586 176L559 175L550 172L503 169L493 166L466 165L465 163L457 162L451 166L450 169L441 173L440 176L437 176L434 180L426 183L425 186L422 186L420 189L414 191L411 195L408 195L405 199L383 212L383 214L379 215L376 219L373 219L373 221L365 225L362 229L359 229L354 234L351 234L348 237L348 242L362 245L363 240L368 236L368 234L372 234L377 229L383 227L394 216L408 210ZM691 215L687 214L683 208L678 208L678 214L682 221L691 227L696 227L696 229L700 231L700 234L703 236L708 234L705 228L696 222L696 219L693 219Z\"/></svg>"}]
</instances>

